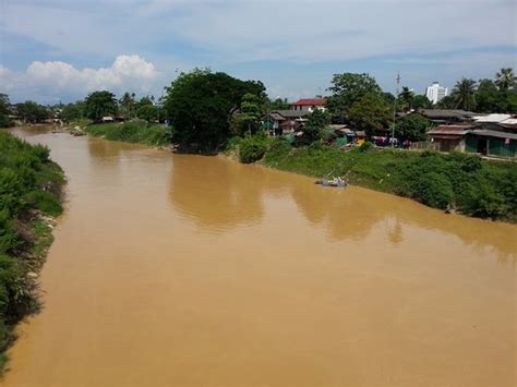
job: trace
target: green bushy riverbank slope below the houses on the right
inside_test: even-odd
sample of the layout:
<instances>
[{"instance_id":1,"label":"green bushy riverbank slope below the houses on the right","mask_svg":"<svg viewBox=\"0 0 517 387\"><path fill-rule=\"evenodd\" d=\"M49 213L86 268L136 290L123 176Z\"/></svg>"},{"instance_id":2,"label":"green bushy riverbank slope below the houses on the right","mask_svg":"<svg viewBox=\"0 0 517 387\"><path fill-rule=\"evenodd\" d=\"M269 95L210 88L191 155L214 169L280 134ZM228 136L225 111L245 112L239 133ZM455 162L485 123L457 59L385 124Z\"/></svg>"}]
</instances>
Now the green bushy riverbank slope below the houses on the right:
<instances>
[{"instance_id":1,"label":"green bushy riverbank slope below the houses on the right","mask_svg":"<svg viewBox=\"0 0 517 387\"><path fill-rule=\"evenodd\" d=\"M267 167L315 178L346 176L354 185L410 197L430 207L517 221L517 165L510 161L369 145L349 152L320 143L293 147L282 138L272 142L262 136L233 138L227 147L231 152L241 161L262 158Z\"/></svg>"}]
</instances>

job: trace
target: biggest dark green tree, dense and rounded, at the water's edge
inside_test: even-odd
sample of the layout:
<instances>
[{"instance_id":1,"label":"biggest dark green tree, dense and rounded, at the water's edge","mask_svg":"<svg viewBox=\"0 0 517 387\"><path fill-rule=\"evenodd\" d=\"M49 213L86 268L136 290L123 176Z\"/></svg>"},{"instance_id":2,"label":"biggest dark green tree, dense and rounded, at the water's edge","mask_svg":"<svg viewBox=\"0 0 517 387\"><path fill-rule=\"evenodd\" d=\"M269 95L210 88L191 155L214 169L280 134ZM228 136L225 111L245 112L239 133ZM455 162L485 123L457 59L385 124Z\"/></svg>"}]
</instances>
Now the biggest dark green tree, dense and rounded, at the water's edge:
<instances>
[{"instance_id":1,"label":"biggest dark green tree, dense and rounded, at the water's edge","mask_svg":"<svg viewBox=\"0 0 517 387\"><path fill-rule=\"evenodd\" d=\"M242 98L264 97L261 82L241 81L226 73L196 69L182 73L167 88L164 108L173 126L173 141L211 152L228 137L230 117Z\"/></svg>"}]
</instances>

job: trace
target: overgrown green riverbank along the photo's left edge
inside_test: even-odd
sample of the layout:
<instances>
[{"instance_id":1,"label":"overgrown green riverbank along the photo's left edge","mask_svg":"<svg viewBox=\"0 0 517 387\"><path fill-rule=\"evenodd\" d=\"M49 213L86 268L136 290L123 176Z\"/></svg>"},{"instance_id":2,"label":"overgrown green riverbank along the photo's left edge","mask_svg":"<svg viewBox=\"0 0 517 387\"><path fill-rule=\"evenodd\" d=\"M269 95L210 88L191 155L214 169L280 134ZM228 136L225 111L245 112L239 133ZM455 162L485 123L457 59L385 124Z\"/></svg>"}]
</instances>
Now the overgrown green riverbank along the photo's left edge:
<instances>
[{"instance_id":1,"label":"overgrown green riverbank along the photo's left edge","mask_svg":"<svg viewBox=\"0 0 517 387\"><path fill-rule=\"evenodd\" d=\"M37 278L62 213L61 168L41 145L0 131L0 373L14 326L38 310Z\"/></svg>"}]
</instances>

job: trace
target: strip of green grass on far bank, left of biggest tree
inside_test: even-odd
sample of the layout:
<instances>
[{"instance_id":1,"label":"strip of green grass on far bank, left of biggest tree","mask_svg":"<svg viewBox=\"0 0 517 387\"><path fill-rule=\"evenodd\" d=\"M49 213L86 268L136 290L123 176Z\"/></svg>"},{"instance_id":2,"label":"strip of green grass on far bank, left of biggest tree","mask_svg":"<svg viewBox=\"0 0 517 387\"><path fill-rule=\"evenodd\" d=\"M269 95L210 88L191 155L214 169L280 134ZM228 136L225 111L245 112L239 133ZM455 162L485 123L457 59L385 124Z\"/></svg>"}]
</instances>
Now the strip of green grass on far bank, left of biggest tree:
<instances>
[{"instance_id":1,"label":"strip of green grass on far bank, left of biggest tree","mask_svg":"<svg viewBox=\"0 0 517 387\"><path fill-rule=\"evenodd\" d=\"M148 124L144 121L87 125L86 132L110 141L153 146L170 144L170 132L164 125Z\"/></svg>"}]
</instances>

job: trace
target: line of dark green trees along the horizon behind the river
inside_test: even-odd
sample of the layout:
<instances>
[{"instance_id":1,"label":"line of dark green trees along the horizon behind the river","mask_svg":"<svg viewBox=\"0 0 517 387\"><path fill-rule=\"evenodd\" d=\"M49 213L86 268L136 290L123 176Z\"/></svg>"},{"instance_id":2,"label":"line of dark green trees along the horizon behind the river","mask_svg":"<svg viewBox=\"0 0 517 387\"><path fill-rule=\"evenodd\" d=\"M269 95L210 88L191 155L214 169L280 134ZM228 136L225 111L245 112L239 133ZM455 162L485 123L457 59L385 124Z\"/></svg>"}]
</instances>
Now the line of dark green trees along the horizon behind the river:
<instances>
[{"instance_id":1,"label":"line of dark green trees along the horizon behind the river","mask_svg":"<svg viewBox=\"0 0 517 387\"><path fill-rule=\"evenodd\" d=\"M461 78L449 96L436 106L424 95L417 95L404 86L395 96L384 92L376 80L366 73L335 74L327 89L327 112L316 111L309 119L305 132L309 140L322 137L329 123L350 124L371 136L393 125L395 112L421 108L465 109L477 112L517 113L516 76L513 69L501 69L494 80L476 82ZM5 125L9 98L0 100L0 124ZM35 102L16 105L26 122L48 118L49 109ZM165 87L165 95L155 100L144 96L136 100L134 93L120 99L108 90L91 93L84 100L62 106L58 117L71 122L87 118L101 122L103 117L121 114L125 119L147 122L168 120L173 126L173 141L182 145L217 149L231 135L255 133L264 117L276 109L288 109L287 100L272 100L260 81L241 81L223 72L194 69L181 73ZM9 123L9 122L8 122ZM418 114L397 120L396 137L420 141L431 122Z\"/></svg>"}]
</instances>

